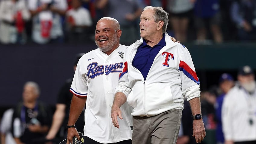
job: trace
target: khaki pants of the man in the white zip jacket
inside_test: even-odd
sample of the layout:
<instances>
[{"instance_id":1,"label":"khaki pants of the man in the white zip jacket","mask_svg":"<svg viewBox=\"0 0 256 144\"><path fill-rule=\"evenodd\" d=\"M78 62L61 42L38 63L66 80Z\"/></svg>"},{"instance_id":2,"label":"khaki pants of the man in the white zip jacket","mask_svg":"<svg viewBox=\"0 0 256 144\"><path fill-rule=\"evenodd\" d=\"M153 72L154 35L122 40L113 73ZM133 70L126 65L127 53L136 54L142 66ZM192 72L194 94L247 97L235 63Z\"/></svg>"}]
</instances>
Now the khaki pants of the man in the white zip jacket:
<instances>
[{"instance_id":1,"label":"khaki pants of the man in the white zip jacket","mask_svg":"<svg viewBox=\"0 0 256 144\"><path fill-rule=\"evenodd\" d=\"M182 110L168 110L152 117L133 117L133 144L175 144Z\"/></svg>"}]
</instances>

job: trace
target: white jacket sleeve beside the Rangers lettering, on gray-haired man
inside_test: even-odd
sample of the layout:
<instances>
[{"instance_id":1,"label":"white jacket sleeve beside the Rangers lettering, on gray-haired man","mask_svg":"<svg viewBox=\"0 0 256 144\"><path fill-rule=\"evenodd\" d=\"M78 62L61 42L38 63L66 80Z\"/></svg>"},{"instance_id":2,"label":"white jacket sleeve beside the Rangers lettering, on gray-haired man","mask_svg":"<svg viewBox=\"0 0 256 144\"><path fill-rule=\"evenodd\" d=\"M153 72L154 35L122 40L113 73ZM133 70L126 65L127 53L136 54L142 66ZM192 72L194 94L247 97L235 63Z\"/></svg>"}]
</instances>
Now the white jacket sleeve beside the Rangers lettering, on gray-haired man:
<instances>
[{"instance_id":1,"label":"white jacket sleeve beside the Rangers lettering, on gray-haired man","mask_svg":"<svg viewBox=\"0 0 256 144\"><path fill-rule=\"evenodd\" d=\"M129 47L127 48L129 49ZM126 49L126 53L124 55L124 59L123 59L123 71L120 74L119 77L119 81L118 81L118 85L116 87L116 91L115 94L117 92L122 92L123 94L125 94L126 98L128 97L128 95L131 92L131 88L130 88L130 83L129 83L129 78L128 78L128 66L127 66L127 60L129 59L129 55L127 55L127 49ZM126 59L127 57L127 59Z\"/></svg>"}]
</instances>

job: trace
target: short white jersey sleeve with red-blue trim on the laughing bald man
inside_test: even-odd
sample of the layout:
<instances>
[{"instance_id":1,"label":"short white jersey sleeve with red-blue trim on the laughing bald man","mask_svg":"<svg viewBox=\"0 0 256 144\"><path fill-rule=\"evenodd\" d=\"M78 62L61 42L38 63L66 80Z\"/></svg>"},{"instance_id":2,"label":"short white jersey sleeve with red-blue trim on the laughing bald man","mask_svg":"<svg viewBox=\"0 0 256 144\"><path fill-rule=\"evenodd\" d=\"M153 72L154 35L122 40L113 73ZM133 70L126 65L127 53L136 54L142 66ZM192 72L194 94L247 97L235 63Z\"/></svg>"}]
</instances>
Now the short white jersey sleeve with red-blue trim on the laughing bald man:
<instances>
[{"instance_id":1,"label":"short white jersey sleeve with red-blue trim on the laughing bald man","mask_svg":"<svg viewBox=\"0 0 256 144\"><path fill-rule=\"evenodd\" d=\"M83 68L83 65L80 62L81 61L79 60L77 63L73 82L69 90L78 97L85 97L88 92L87 79L81 72L81 70L85 68Z\"/></svg>"}]
</instances>

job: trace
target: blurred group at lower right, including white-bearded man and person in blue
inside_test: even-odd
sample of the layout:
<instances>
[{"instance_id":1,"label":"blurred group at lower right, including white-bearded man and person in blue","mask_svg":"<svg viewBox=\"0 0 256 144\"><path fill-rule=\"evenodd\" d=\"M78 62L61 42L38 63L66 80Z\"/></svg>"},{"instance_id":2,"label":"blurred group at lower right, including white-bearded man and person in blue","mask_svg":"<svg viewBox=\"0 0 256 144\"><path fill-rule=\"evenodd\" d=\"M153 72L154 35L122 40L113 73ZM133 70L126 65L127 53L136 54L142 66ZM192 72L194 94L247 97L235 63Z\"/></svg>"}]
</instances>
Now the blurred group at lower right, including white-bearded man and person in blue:
<instances>
[{"instance_id":1,"label":"blurred group at lower right, including white-bearded man and person in blue","mask_svg":"<svg viewBox=\"0 0 256 144\"><path fill-rule=\"evenodd\" d=\"M237 75L223 73L219 84L201 92L201 107L206 130L216 144L256 143L256 82L250 66ZM207 142L204 142L207 143Z\"/></svg>"}]
</instances>

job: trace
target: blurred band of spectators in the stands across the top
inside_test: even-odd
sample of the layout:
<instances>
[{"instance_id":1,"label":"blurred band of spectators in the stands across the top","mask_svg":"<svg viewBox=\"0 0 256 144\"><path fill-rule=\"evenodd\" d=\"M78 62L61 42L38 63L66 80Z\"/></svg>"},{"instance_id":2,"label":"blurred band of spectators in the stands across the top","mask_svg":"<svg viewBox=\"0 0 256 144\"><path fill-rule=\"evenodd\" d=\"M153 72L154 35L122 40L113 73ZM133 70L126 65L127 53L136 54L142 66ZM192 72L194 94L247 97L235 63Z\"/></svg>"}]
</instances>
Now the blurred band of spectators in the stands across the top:
<instances>
[{"instance_id":1,"label":"blurred band of spectators in the stands across the top","mask_svg":"<svg viewBox=\"0 0 256 144\"><path fill-rule=\"evenodd\" d=\"M139 16L147 6L169 13L168 33L182 43L256 40L254 0L0 0L0 43L94 42L96 22L120 23L120 43L139 39Z\"/></svg>"}]
</instances>

